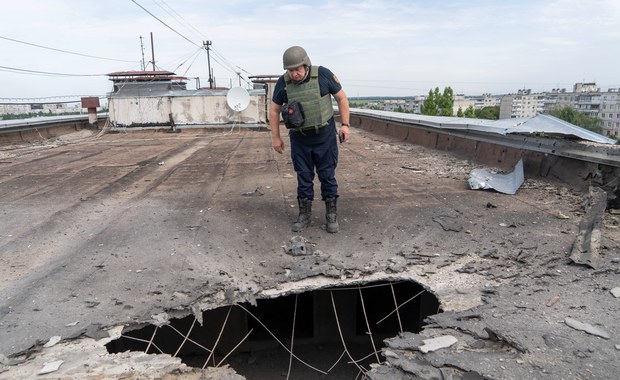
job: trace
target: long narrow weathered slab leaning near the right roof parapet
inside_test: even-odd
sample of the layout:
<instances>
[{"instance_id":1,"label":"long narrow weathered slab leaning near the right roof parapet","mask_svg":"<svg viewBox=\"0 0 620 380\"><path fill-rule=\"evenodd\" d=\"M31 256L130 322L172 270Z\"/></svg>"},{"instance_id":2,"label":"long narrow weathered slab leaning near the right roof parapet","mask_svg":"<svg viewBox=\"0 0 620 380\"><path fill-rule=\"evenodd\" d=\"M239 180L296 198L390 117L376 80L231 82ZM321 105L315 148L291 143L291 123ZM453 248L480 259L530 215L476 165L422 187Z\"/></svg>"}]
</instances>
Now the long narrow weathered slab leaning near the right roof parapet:
<instances>
[{"instance_id":1,"label":"long narrow weathered slab leaning near the right roof parapet","mask_svg":"<svg viewBox=\"0 0 620 380\"><path fill-rule=\"evenodd\" d=\"M589 207L579 225L570 258L574 263L599 268L601 224L607 207L607 193L598 187L590 188Z\"/></svg>"}]
</instances>

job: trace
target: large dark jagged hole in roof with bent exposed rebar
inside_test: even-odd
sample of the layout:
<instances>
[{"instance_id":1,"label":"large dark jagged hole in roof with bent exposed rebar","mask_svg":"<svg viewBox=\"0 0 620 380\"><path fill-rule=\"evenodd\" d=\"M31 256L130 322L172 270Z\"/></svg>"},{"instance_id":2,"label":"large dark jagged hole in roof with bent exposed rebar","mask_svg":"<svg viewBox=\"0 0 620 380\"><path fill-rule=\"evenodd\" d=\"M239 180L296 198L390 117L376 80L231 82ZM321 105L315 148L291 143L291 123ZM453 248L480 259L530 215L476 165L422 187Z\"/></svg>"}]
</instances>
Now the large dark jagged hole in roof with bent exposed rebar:
<instances>
[{"instance_id":1,"label":"large dark jagged hole in roof with bent exposed rebar","mask_svg":"<svg viewBox=\"0 0 620 380\"><path fill-rule=\"evenodd\" d=\"M438 299L412 281L334 286L234 304L123 331L108 352L178 356L193 367L228 364L247 379L352 379L381 363L383 339L417 333L441 312Z\"/></svg>"}]
</instances>

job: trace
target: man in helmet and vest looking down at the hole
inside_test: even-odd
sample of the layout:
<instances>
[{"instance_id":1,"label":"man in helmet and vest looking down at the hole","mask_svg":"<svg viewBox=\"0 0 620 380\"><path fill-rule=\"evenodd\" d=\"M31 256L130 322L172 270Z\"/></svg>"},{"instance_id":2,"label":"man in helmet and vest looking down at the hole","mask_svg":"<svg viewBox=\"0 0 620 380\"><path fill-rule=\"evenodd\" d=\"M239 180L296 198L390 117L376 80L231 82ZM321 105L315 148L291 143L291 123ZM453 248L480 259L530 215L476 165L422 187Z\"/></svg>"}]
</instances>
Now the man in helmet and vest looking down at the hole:
<instances>
[{"instance_id":1,"label":"man in helmet and vest looking down at the hole","mask_svg":"<svg viewBox=\"0 0 620 380\"><path fill-rule=\"evenodd\" d=\"M289 129L299 204L299 215L293 222L292 229L299 232L310 224L316 171L321 182L321 198L325 202L326 229L330 233L336 233L337 134L341 141L349 139L349 101L336 75L326 67L312 66L302 47L288 48L282 60L286 72L276 82L269 109L271 144L276 152L284 151L284 141L280 137L282 106L298 102L304 113L303 124ZM341 126L338 131L334 121L332 96L336 99L340 113Z\"/></svg>"}]
</instances>

